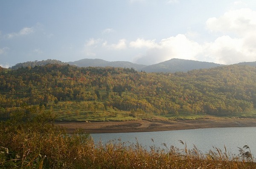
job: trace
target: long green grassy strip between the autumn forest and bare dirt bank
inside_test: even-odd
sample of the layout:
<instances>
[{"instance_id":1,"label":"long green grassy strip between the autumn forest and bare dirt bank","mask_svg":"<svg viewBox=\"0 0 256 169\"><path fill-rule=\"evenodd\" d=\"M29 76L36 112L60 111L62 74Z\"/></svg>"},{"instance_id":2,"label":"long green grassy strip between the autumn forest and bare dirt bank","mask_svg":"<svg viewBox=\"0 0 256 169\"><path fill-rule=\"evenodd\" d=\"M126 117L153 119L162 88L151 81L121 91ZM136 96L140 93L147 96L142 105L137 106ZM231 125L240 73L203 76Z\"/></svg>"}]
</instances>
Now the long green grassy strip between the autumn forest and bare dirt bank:
<instances>
[{"instance_id":1,"label":"long green grassy strip between the autumn forest and bare dirt bank","mask_svg":"<svg viewBox=\"0 0 256 169\"><path fill-rule=\"evenodd\" d=\"M131 113L105 106L101 101L60 101L47 105L46 111L54 113L57 116L56 121L196 120L216 117L205 114L154 115L140 111ZM226 117L256 118L256 109Z\"/></svg>"}]
</instances>

